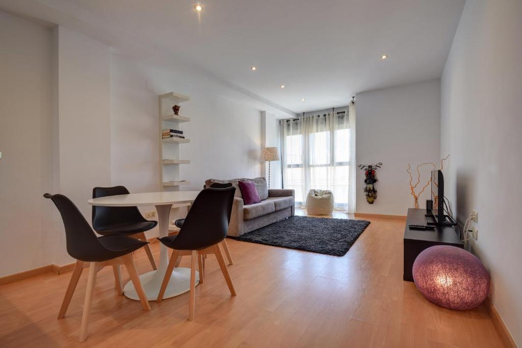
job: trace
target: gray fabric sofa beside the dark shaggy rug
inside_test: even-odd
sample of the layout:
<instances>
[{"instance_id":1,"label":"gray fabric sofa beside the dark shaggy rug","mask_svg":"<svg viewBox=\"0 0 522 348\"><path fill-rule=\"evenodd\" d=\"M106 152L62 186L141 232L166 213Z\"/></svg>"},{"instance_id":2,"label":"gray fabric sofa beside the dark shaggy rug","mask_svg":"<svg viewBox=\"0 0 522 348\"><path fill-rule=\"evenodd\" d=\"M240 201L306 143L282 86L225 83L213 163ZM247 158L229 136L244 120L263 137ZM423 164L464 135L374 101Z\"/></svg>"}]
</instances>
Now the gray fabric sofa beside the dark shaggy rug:
<instances>
[{"instance_id":1,"label":"gray fabric sofa beside the dark shaggy rug","mask_svg":"<svg viewBox=\"0 0 522 348\"><path fill-rule=\"evenodd\" d=\"M239 181L254 182L261 201L251 205L244 205L243 195L238 184ZM294 215L294 190L268 189L264 177L230 180L208 179L205 181L205 186L210 187L213 183L232 183L236 188L232 215L230 217L229 236L237 237Z\"/></svg>"}]
</instances>

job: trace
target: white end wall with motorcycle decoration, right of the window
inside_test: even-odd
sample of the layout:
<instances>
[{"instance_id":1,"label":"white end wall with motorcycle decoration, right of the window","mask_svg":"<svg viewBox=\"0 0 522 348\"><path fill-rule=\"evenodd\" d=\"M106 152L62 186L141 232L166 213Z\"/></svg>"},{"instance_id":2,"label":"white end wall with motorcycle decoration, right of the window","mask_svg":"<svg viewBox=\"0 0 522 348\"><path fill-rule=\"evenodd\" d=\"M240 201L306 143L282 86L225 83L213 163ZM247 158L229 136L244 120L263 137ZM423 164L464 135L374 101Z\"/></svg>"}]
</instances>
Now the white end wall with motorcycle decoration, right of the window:
<instances>
[{"instance_id":1,"label":"white end wall with motorcycle decoration, right of the window","mask_svg":"<svg viewBox=\"0 0 522 348\"><path fill-rule=\"evenodd\" d=\"M364 173L357 169L355 212L406 215L413 208L408 163L416 173L417 164L432 162L438 169L440 162L440 80L358 93L355 106L357 164L383 162L373 204L366 202ZM421 171L421 184L429 180L430 170ZM429 197L426 189L419 198L421 208Z\"/></svg>"}]
</instances>

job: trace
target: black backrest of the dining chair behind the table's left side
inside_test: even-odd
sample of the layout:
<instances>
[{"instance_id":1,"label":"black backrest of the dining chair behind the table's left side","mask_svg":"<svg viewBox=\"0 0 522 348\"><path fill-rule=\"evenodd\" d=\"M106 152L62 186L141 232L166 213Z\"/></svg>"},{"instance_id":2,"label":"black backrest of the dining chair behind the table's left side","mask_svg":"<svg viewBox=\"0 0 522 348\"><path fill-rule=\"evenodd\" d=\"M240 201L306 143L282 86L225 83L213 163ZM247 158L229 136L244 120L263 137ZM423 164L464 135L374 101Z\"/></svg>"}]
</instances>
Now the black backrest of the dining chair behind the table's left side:
<instances>
[{"instance_id":1,"label":"black backrest of the dining chair behind the table's left side","mask_svg":"<svg viewBox=\"0 0 522 348\"><path fill-rule=\"evenodd\" d=\"M125 186L94 187L92 189L92 198L128 194L129 191ZM144 221L147 220L137 207L92 206L92 227L96 231L102 230L106 226Z\"/></svg>"}]
</instances>

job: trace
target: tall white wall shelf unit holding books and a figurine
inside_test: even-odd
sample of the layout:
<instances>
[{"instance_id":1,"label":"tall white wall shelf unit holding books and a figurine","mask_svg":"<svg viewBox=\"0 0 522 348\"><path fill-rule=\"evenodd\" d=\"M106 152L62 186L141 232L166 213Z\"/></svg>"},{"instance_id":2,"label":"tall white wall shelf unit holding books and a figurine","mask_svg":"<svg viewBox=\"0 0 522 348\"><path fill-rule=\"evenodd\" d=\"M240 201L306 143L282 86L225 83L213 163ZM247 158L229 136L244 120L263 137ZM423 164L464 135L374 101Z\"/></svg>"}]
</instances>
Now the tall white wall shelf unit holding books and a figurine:
<instances>
[{"instance_id":1,"label":"tall white wall shelf unit holding books and a figurine","mask_svg":"<svg viewBox=\"0 0 522 348\"><path fill-rule=\"evenodd\" d=\"M180 159L180 146L189 143L190 139L185 138L165 138L162 139L163 129L180 129L180 124L189 122L189 117L174 115L172 106L180 105L183 109L182 103L191 100L188 95L176 92L169 92L159 95L159 139L160 139L160 190L162 191L177 191L180 186L189 185L189 181L185 177L180 177L180 164L189 164L190 160ZM180 134L185 136L185 134ZM173 207L179 208L179 207Z\"/></svg>"}]
</instances>

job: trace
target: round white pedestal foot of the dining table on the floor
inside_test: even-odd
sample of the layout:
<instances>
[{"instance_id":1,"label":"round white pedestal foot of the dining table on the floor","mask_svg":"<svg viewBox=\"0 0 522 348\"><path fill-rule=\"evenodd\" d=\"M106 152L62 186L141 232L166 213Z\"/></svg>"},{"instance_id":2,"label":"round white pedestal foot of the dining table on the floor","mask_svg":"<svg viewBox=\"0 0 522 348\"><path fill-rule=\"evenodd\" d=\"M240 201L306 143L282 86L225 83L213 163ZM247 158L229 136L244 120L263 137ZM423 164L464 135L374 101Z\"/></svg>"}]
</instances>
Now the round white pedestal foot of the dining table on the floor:
<instances>
[{"instance_id":1,"label":"round white pedestal foot of the dining table on the floor","mask_svg":"<svg viewBox=\"0 0 522 348\"><path fill-rule=\"evenodd\" d=\"M147 299L149 301L156 301L160 292L161 283L163 282L163 275L160 274L160 272L158 271L150 271L141 274L139 276L139 279L141 281L143 289L145 290ZM165 294L163 295L163 299L181 295L191 290L190 280L190 268L175 267L170 277L167 290L165 290ZM196 285L198 283L199 273L196 272ZM134 290L134 284L132 283L132 281L129 281L127 284L125 284L125 287L123 288L123 294L130 299L139 301L138 294L136 293L136 290Z\"/></svg>"}]
</instances>

